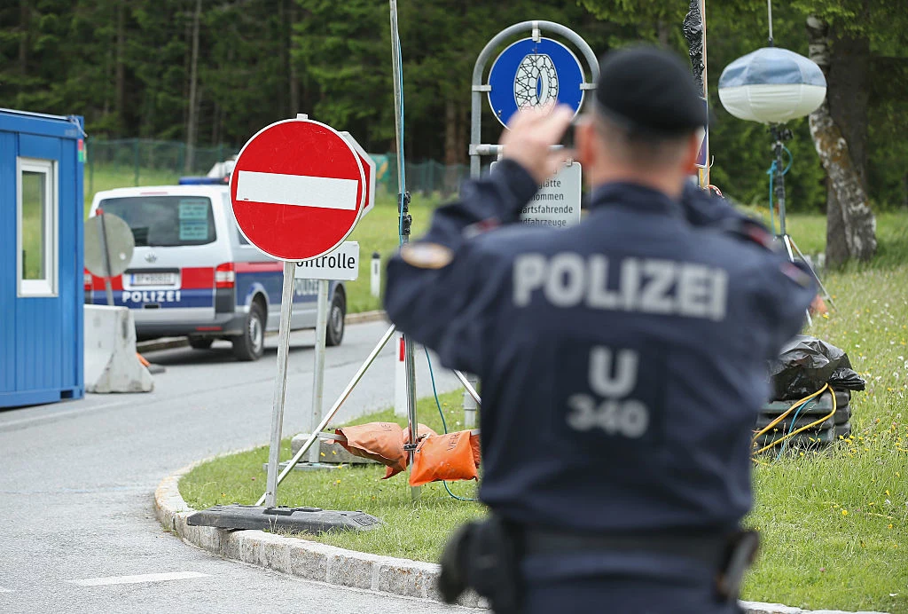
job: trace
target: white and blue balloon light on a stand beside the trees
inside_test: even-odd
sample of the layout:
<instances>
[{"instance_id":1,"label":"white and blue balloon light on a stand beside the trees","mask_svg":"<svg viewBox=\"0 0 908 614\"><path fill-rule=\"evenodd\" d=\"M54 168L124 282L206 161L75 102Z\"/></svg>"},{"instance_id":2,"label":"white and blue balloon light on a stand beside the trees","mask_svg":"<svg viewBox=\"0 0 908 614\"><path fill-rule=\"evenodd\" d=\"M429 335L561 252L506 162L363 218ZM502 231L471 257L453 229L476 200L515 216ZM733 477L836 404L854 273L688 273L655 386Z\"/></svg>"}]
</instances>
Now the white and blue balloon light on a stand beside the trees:
<instances>
[{"instance_id":1,"label":"white and blue balloon light on a stand beside the trees","mask_svg":"<svg viewBox=\"0 0 908 614\"><path fill-rule=\"evenodd\" d=\"M823 71L804 55L765 47L725 66L719 100L739 119L785 124L813 113L826 95Z\"/></svg>"}]
</instances>

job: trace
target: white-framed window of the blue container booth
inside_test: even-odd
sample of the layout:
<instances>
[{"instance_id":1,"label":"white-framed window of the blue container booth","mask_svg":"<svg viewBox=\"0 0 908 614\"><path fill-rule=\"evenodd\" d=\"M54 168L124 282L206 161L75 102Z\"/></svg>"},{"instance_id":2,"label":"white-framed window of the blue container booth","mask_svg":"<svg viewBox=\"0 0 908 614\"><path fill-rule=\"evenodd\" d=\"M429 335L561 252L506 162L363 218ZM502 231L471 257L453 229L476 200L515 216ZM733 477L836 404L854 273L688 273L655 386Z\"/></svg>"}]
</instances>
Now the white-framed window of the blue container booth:
<instances>
[{"instance_id":1,"label":"white-framed window of the blue container booth","mask_svg":"<svg viewBox=\"0 0 908 614\"><path fill-rule=\"evenodd\" d=\"M56 296L57 191L52 160L16 159L19 296Z\"/></svg>"}]
</instances>

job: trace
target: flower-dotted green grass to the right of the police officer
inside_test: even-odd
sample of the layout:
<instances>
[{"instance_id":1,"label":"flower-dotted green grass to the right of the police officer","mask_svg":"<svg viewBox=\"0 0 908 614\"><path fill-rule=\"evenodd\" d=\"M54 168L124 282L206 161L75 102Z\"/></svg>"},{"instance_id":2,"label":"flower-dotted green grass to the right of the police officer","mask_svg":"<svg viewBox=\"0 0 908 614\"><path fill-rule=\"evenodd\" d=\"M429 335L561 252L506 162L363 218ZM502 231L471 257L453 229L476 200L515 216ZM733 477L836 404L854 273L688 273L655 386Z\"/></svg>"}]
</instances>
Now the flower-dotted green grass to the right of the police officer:
<instances>
[{"instance_id":1,"label":"flower-dotted green grass to the right of the police officer","mask_svg":"<svg viewBox=\"0 0 908 614\"><path fill-rule=\"evenodd\" d=\"M756 467L748 522L764 546L747 599L908 612L908 215L878 222L877 259L826 276L837 309L809 331L867 380L851 401L853 436Z\"/></svg>"}]
</instances>

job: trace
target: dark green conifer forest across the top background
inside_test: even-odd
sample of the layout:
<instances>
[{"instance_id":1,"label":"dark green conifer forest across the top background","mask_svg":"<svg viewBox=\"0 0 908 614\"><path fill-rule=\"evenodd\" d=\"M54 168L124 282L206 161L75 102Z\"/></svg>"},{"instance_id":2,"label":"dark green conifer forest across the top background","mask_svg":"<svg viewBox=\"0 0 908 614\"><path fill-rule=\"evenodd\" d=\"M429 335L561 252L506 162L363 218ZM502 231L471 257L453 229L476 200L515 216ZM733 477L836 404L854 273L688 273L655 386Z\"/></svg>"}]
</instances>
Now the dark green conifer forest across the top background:
<instances>
[{"instance_id":1,"label":"dark green conifer forest across the top background","mask_svg":"<svg viewBox=\"0 0 908 614\"><path fill-rule=\"evenodd\" d=\"M883 0L793 0L774 6L775 44L807 55L805 20L829 25L832 115L876 211L908 207L908 12ZM91 139L180 141L236 151L297 113L395 149L387 2L380 0L5 0L0 107L81 114ZM401 0L410 161L466 163L470 75L502 28L548 19L597 54L647 40L687 52L684 0ZM725 113L725 65L766 45L762 0L707 0L707 80L714 114L712 183L765 203L772 152L761 124ZM484 142L498 124L484 109ZM792 211L822 212L824 169L807 120L790 124ZM186 161L187 168L191 159Z\"/></svg>"}]
</instances>

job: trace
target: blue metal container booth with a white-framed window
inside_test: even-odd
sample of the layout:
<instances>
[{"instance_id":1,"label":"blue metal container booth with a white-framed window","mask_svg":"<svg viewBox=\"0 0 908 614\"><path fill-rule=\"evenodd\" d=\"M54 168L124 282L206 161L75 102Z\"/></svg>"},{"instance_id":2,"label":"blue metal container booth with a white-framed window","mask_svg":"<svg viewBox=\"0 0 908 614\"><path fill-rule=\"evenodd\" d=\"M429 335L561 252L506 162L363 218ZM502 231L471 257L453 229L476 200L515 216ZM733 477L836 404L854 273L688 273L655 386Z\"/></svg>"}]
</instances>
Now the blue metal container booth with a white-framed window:
<instances>
[{"instance_id":1,"label":"blue metal container booth with a white-framed window","mask_svg":"<svg viewBox=\"0 0 908 614\"><path fill-rule=\"evenodd\" d=\"M0 408L78 399L81 117L0 109Z\"/></svg>"}]
</instances>

